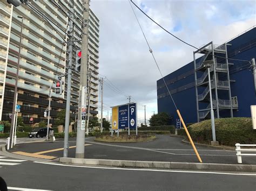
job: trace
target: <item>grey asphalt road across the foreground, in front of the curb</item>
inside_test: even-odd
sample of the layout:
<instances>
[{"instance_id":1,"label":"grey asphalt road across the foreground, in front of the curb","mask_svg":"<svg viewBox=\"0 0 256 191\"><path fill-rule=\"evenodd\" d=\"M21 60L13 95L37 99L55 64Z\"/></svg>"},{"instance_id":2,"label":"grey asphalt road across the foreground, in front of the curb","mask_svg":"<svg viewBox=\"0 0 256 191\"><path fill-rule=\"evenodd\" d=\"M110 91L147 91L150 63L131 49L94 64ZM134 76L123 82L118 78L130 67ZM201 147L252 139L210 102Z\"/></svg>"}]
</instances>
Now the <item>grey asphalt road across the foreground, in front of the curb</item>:
<instances>
[{"instance_id":1,"label":"grey asphalt road across the foreground, in front of the curb","mask_svg":"<svg viewBox=\"0 0 256 191\"><path fill-rule=\"evenodd\" d=\"M11 158L2 158L12 160ZM9 161L9 163L11 163ZM0 165L9 190L255 190L256 174L41 164Z\"/></svg>"}]
</instances>

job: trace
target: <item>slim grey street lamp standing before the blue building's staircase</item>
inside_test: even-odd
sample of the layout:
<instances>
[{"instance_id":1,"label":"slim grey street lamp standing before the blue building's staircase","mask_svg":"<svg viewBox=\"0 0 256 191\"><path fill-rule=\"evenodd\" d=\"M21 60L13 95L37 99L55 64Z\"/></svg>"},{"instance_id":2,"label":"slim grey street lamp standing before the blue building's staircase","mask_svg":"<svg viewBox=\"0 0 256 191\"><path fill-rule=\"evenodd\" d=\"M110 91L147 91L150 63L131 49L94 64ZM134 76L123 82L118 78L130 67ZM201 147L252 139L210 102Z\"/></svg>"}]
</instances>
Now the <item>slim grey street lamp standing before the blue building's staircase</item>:
<instances>
[{"instance_id":1,"label":"slim grey street lamp standing before the blue building's staircase","mask_svg":"<svg viewBox=\"0 0 256 191\"><path fill-rule=\"evenodd\" d=\"M212 140L216 142L215 135L215 122L214 122L214 112L213 112L213 104L212 104L212 87L211 87L211 76L210 76L210 68L213 65L212 60L207 60L203 62L203 65L208 70L208 81L209 81L209 92L210 92L210 104L211 104L211 124L212 124ZM217 87L215 87L217 88Z\"/></svg>"}]
</instances>

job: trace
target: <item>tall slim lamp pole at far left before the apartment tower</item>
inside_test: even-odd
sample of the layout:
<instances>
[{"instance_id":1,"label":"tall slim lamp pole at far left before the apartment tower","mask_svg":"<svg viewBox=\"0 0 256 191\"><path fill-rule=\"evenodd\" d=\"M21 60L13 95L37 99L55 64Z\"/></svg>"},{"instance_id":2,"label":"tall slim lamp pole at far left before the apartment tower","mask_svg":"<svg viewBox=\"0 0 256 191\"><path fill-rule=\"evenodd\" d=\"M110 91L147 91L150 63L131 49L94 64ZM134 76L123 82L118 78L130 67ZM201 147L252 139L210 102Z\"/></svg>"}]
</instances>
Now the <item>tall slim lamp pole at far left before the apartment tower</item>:
<instances>
[{"instance_id":1,"label":"tall slim lamp pole at far left before the apartment tower","mask_svg":"<svg viewBox=\"0 0 256 191\"><path fill-rule=\"evenodd\" d=\"M21 24L21 34L19 36L19 56L18 56L18 61L17 61L17 72L16 72L16 79L15 79L15 88L14 88L14 103L12 105L12 118L11 118L11 129L10 129L10 143L11 143L11 148L12 148L12 143L13 138L14 138L14 123L15 123L15 110L16 110L16 105L17 105L17 98L18 98L18 78L19 78L19 60L21 58L21 43L22 43L22 29L23 29L23 17L18 16L18 18L22 19L22 24Z\"/></svg>"}]
</instances>

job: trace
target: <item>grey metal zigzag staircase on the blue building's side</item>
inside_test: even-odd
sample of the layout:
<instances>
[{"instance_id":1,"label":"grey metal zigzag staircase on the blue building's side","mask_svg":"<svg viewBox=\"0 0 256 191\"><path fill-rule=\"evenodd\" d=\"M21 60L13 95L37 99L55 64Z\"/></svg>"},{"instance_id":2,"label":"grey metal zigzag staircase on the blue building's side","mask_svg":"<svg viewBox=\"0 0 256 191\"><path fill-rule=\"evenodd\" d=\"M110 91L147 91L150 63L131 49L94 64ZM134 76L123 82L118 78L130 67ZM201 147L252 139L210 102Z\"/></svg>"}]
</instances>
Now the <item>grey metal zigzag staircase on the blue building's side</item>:
<instances>
[{"instance_id":1,"label":"grey metal zigzag staircase on the blue building's side","mask_svg":"<svg viewBox=\"0 0 256 191\"><path fill-rule=\"evenodd\" d=\"M227 44L217 46L211 42L194 52L198 122L210 118L210 91L212 92L214 117L221 117L220 110L230 110L230 116L233 117L233 110L238 109L237 97L231 97L229 66L232 63L228 63L225 59L228 58L226 47ZM203 56L196 60L196 54L203 54ZM205 103L208 103L207 107Z\"/></svg>"}]
</instances>

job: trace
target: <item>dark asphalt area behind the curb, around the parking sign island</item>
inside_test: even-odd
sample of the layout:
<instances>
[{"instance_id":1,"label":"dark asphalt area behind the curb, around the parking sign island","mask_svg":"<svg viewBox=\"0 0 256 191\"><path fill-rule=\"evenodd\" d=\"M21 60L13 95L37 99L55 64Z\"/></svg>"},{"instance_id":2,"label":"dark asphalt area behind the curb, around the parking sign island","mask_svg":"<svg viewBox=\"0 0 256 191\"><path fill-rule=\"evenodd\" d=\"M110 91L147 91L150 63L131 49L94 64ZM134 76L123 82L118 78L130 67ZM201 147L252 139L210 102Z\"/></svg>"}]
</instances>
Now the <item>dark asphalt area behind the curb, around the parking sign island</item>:
<instances>
[{"instance_id":1,"label":"dark asphalt area behind the curb, around the parking sign island","mask_svg":"<svg viewBox=\"0 0 256 191\"><path fill-rule=\"evenodd\" d=\"M93 137L86 138L85 158L116 159L116 160L144 160L144 161L172 161L198 162L191 145L181 142L180 137L157 135L157 139L144 143L99 143ZM76 138L70 138L70 146L76 145ZM56 148L63 148L63 139L55 143L42 142L18 144L10 152L23 151L36 153ZM197 146L203 162L237 164L235 151L216 150L212 147ZM69 149L69 157L75 157L76 148ZM63 156L63 150L44 153L56 158ZM255 157L242 157L242 164L256 164Z\"/></svg>"}]
</instances>

